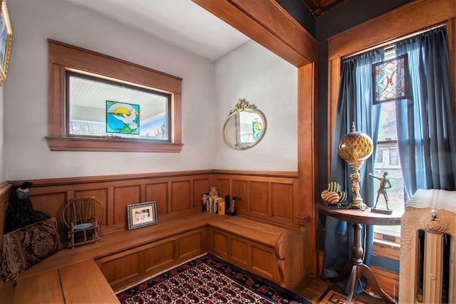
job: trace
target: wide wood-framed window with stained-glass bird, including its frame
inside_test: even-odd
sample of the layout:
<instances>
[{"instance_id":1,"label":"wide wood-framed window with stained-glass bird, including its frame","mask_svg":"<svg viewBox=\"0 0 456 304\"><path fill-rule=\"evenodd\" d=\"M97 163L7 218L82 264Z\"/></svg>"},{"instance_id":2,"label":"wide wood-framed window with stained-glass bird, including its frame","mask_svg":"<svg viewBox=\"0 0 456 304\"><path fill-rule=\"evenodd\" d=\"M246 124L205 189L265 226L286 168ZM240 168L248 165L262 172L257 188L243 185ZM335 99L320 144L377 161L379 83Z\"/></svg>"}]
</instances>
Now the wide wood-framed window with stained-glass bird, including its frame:
<instances>
[{"instance_id":1,"label":"wide wood-framed window with stained-glass bird, including its frame","mask_svg":"<svg viewBox=\"0 0 456 304\"><path fill-rule=\"evenodd\" d=\"M182 79L48 40L49 148L180 152Z\"/></svg>"}]
</instances>

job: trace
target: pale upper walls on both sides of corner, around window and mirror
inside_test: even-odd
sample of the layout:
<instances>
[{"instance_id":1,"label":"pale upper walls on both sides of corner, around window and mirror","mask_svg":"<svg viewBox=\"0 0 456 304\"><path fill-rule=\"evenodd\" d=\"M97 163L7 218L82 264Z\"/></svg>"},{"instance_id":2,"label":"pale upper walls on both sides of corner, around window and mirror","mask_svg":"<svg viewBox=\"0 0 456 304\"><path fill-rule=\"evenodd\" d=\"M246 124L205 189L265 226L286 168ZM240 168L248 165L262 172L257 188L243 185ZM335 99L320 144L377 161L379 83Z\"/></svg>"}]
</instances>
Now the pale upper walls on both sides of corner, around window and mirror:
<instances>
[{"instance_id":1,"label":"pale upper walls on both sides of corner, around window and mirror","mask_svg":"<svg viewBox=\"0 0 456 304\"><path fill-rule=\"evenodd\" d=\"M192 169L297 170L297 70L257 43L247 43L214 64L67 1L10 0L8 8L13 39L4 83L3 179ZM183 78L182 152L51 152L44 138L47 38ZM221 135L238 98L256 104L268 122L264 139L247 151L230 149Z\"/></svg>"}]
</instances>

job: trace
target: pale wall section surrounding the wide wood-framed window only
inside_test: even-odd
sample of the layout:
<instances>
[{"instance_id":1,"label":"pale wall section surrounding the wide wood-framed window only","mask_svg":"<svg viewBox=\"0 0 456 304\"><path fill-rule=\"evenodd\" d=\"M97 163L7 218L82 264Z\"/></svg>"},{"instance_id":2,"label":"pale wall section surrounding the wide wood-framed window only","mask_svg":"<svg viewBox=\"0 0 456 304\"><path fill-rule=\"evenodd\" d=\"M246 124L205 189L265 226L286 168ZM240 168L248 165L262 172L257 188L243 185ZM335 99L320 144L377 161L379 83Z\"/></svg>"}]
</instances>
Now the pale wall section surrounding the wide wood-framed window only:
<instances>
[{"instance_id":1,"label":"pale wall section surrounding the wide wood-framed window only","mask_svg":"<svg viewBox=\"0 0 456 304\"><path fill-rule=\"evenodd\" d=\"M8 8L13 28L4 84L8 180L212 169L212 61L67 1L11 0ZM182 152L51 152L44 139L47 38L183 78Z\"/></svg>"}]
</instances>

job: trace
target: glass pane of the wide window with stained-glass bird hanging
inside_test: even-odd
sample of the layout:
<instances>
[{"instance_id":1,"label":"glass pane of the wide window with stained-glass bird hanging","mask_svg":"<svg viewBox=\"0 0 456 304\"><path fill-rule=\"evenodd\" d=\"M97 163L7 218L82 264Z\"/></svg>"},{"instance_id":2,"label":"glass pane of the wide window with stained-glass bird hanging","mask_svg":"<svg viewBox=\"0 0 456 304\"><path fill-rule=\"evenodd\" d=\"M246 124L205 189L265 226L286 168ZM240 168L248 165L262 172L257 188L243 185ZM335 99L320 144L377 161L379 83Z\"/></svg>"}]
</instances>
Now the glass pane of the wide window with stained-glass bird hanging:
<instances>
[{"instance_id":1,"label":"glass pane of the wide window with stained-glass bird hanging","mask_svg":"<svg viewBox=\"0 0 456 304\"><path fill-rule=\"evenodd\" d=\"M170 141L171 94L67 72L67 134Z\"/></svg>"}]
</instances>

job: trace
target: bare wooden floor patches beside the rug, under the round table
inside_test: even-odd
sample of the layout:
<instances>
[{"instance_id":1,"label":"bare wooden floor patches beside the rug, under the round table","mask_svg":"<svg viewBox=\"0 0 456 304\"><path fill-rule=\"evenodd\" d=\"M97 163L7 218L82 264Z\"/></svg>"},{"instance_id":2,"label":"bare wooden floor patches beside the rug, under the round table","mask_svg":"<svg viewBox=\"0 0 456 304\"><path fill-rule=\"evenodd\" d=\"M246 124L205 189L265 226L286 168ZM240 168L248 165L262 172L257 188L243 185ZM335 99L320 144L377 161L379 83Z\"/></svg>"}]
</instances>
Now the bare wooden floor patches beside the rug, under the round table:
<instances>
[{"instance_id":1,"label":"bare wooden floor patches beside the rug, under the round table","mask_svg":"<svg viewBox=\"0 0 456 304\"><path fill-rule=\"evenodd\" d=\"M302 287L300 286L297 288L295 292L309 300L311 303L319 303L319 300L323 298L323 295L326 294L326 291L329 289L338 293L343 293L341 288L339 288L335 283L323 281L321 278L315 276L309 276L306 279L306 282L302 284ZM382 299L373 298L371 295L364 293L361 295L355 295L354 300L352 300L351 303L383 304L386 302Z\"/></svg>"}]
</instances>

